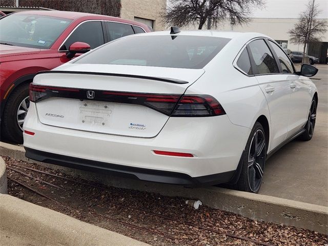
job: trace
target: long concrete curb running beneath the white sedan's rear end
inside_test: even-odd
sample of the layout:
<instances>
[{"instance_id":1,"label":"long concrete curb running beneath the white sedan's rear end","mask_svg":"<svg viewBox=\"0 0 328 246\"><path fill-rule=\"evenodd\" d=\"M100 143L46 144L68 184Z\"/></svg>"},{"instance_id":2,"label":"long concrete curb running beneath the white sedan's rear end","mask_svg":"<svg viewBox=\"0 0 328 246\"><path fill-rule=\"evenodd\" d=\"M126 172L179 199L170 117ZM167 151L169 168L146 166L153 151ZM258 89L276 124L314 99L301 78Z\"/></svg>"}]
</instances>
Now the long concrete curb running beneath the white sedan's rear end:
<instances>
[{"instance_id":1,"label":"long concrete curb running beneath the white sedan's rear end","mask_svg":"<svg viewBox=\"0 0 328 246\"><path fill-rule=\"evenodd\" d=\"M4 156L33 162L25 157L23 147L0 142L0 153ZM43 165L54 169L64 170L70 175L79 175L84 179L97 180L109 186L155 192L167 196L182 196L199 199L204 205L209 207L233 212L251 219L278 224L283 223L288 226L328 234L328 207L316 204L218 187L188 189L180 186L118 178L98 173L95 174L58 167L47 163L43 163Z\"/></svg>"}]
</instances>

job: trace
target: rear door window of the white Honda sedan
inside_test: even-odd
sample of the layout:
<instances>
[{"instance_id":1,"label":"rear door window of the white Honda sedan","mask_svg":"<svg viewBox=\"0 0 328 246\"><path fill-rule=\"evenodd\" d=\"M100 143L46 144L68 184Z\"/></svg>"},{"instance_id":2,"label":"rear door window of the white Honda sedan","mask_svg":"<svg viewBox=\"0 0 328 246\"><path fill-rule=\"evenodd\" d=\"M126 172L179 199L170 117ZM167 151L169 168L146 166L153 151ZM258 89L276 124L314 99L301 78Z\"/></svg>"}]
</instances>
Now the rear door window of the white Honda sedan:
<instances>
[{"instance_id":1,"label":"rear door window of the white Honda sedan","mask_svg":"<svg viewBox=\"0 0 328 246\"><path fill-rule=\"evenodd\" d=\"M254 74L279 73L276 60L263 39L254 40L249 47L256 65Z\"/></svg>"}]
</instances>

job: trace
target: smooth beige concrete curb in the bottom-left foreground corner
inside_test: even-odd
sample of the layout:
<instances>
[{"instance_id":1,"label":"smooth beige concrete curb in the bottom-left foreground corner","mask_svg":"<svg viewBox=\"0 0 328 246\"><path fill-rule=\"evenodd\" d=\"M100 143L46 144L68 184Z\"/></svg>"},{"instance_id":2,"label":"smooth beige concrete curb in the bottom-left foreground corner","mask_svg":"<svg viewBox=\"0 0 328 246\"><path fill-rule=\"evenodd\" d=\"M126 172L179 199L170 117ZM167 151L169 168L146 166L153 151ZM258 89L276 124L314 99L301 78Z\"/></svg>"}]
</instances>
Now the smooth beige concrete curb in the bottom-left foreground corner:
<instances>
[{"instance_id":1,"label":"smooth beige concrete curb in the bottom-left foreground corner","mask_svg":"<svg viewBox=\"0 0 328 246\"><path fill-rule=\"evenodd\" d=\"M0 195L0 221L2 245L150 246L10 195Z\"/></svg>"}]
</instances>

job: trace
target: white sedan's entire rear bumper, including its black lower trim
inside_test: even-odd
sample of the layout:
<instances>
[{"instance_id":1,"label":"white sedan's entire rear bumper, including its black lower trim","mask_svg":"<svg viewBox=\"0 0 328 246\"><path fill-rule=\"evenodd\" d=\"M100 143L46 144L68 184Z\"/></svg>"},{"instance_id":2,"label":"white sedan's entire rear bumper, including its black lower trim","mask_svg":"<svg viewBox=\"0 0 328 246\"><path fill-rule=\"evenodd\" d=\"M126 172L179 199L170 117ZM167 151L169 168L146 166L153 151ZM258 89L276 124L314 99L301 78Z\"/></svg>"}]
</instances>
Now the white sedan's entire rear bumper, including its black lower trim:
<instances>
[{"instance_id":1,"label":"white sedan's entire rear bumper, including its black lower trim","mask_svg":"<svg viewBox=\"0 0 328 246\"><path fill-rule=\"evenodd\" d=\"M23 134L31 159L186 186L226 182L237 169L251 131L221 115L170 118L153 138L107 135L44 125L34 103L24 130L35 133ZM191 153L193 157L159 155L154 150Z\"/></svg>"}]
</instances>

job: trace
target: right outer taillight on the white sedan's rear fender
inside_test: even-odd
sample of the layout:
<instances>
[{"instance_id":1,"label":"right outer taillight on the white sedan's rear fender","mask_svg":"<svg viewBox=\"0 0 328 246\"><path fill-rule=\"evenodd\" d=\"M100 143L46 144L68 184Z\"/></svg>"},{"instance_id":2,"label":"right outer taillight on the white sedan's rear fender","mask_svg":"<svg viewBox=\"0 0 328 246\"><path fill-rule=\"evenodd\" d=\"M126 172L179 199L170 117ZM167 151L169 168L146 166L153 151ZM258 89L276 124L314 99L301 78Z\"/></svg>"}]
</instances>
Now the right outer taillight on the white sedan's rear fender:
<instances>
[{"instance_id":1,"label":"right outer taillight on the white sedan's rear fender","mask_svg":"<svg viewBox=\"0 0 328 246\"><path fill-rule=\"evenodd\" d=\"M226 114L219 102L209 95L184 95L171 116L203 117Z\"/></svg>"}]
</instances>

